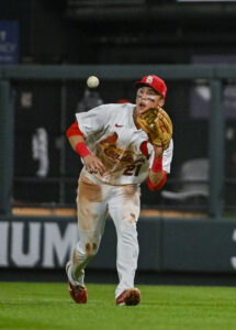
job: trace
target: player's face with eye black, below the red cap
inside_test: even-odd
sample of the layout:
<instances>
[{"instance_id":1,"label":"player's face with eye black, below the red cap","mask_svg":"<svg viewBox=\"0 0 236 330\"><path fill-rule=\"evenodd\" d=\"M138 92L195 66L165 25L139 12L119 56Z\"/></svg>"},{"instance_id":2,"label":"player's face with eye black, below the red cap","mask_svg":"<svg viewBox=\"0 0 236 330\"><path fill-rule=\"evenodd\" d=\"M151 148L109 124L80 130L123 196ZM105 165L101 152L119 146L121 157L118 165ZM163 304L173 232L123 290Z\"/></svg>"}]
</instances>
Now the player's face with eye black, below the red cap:
<instances>
[{"instance_id":1,"label":"player's face with eye black, below the red cap","mask_svg":"<svg viewBox=\"0 0 236 330\"><path fill-rule=\"evenodd\" d=\"M151 108L162 107L164 99L155 89L148 86L138 88L136 95L136 113L141 116Z\"/></svg>"}]
</instances>

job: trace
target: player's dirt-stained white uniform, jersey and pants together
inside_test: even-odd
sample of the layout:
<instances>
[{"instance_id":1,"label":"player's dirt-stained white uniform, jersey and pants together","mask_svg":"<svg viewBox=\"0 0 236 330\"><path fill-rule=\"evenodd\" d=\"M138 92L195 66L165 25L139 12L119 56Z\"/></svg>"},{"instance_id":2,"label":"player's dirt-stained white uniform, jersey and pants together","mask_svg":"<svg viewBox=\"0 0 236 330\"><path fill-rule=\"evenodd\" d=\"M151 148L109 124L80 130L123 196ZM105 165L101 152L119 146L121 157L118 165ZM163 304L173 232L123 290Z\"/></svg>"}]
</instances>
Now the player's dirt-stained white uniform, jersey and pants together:
<instances>
[{"instance_id":1,"label":"player's dirt-stained white uniform, jersey and pants together","mask_svg":"<svg viewBox=\"0 0 236 330\"><path fill-rule=\"evenodd\" d=\"M87 147L105 165L101 176L81 170L77 207L79 242L76 245L68 276L74 285L83 282L83 268L97 253L108 212L117 234L116 267L120 284L115 296L134 286L138 242L136 222L139 216L139 184L144 182L154 160L148 136L134 123L135 105L102 105L77 113ZM147 143L147 154L141 145ZM170 172L173 143L164 152L162 167Z\"/></svg>"}]
</instances>

